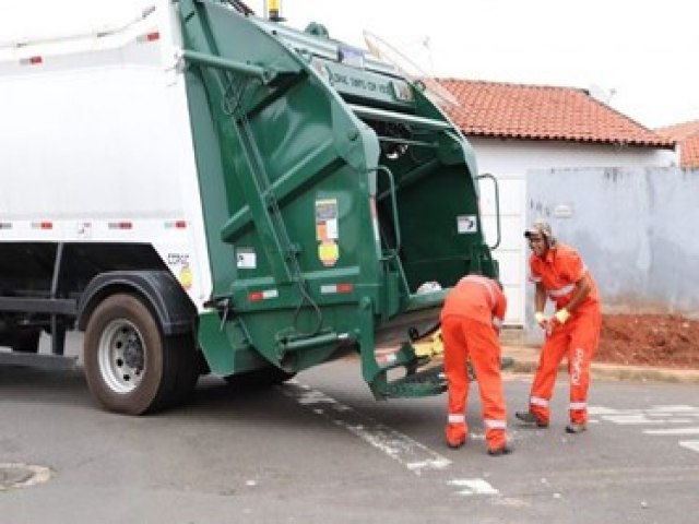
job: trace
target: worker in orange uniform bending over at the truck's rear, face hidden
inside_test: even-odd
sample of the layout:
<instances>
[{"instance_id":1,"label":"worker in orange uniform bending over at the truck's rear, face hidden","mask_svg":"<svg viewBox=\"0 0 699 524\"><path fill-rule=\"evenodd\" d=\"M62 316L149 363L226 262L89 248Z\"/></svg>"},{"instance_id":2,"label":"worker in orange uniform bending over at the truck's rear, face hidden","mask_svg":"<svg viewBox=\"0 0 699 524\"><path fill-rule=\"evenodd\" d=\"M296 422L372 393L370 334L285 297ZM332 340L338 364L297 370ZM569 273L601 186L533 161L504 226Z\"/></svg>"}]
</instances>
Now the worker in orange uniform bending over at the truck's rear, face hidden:
<instances>
[{"instance_id":1,"label":"worker in orange uniform bending over at the truck's rear, face hidden","mask_svg":"<svg viewBox=\"0 0 699 524\"><path fill-rule=\"evenodd\" d=\"M507 299L496 281L467 275L445 299L441 335L445 343L445 373L449 383L447 443L459 448L466 441L465 408L469 397L466 359L471 358L481 393L488 454L511 452L507 441L507 409L500 377L498 333Z\"/></svg>"}]
</instances>

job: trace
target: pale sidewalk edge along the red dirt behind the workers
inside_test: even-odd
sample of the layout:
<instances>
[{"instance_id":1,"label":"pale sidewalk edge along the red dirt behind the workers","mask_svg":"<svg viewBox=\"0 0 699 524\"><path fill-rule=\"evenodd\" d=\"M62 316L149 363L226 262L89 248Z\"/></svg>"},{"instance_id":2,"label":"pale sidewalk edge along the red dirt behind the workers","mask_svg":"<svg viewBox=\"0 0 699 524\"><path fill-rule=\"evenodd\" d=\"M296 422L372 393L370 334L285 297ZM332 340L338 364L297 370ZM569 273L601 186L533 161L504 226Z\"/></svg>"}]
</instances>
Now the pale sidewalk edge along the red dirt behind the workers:
<instances>
[{"instance_id":1,"label":"pale sidewalk edge along the red dirt behind the workers","mask_svg":"<svg viewBox=\"0 0 699 524\"><path fill-rule=\"evenodd\" d=\"M514 373L533 373L538 365L538 347L510 346L502 347L502 356L514 359L508 370ZM566 372L567 360L564 359L559 371ZM623 366L617 364L592 362L593 379L633 380L676 383L699 383L699 369L670 369L645 366Z\"/></svg>"}]
</instances>

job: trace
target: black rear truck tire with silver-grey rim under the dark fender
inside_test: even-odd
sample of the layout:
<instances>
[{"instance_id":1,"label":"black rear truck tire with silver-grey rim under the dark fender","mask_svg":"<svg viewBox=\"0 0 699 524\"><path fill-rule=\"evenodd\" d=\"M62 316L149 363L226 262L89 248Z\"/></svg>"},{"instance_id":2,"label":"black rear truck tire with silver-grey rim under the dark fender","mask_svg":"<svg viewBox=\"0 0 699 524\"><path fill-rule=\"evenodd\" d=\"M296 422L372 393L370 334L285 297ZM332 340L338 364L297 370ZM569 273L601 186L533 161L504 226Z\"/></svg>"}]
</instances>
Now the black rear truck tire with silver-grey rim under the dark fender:
<instances>
[{"instance_id":1,"label":"black rear truck tire with silver-grey rim under the dark fender","mask_svg":"<svg viewBox=\"0 0 699 524\"><path fill-rule=\"evenodd\" d=\"M95 308L85 330L87 385L111 412L144 415L167 407L196 382L187 372L193 361L188 356L194 354L188 341L191 336L164 336L135 296L111 295Z\"/></svg>"}]
</instances>

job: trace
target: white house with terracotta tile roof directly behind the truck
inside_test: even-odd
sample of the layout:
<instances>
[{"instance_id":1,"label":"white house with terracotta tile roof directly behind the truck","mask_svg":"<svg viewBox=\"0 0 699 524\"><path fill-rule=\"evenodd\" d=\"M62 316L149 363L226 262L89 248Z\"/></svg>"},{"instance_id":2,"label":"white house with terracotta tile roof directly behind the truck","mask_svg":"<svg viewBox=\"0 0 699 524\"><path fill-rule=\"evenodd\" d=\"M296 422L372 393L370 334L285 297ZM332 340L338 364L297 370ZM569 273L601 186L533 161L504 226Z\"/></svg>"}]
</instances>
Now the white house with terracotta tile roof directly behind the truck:
<instances>
[{"instance_id":1,"label":"white house with terracotta tile roof directly behind the truck","mask_svg":"<svg viewBox=\"0 0 699 524\"><path fill-rule=\"evenodd\" d=\"M473 145L479 174L491 174L498 180L501 238L494 254L508 295L506 323L523 325L528 170L673 166L675 142L585 90L457 79L437 82L453 95L452 103L442 106ZM493 246L497 214L495 192L487 183L481 180L481 205L486 240Z\"/></svg>"}]
</instances>

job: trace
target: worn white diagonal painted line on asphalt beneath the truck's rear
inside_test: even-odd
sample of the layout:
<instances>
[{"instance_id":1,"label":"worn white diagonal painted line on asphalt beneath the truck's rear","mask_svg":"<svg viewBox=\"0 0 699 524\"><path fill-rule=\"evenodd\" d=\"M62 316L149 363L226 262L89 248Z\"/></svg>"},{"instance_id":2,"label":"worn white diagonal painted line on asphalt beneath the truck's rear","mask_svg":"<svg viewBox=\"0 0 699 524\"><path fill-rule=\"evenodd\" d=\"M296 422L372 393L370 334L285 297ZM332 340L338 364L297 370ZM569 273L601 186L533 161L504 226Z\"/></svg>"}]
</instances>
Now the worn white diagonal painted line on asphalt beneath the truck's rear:
<instances>
[{"instance_id":1,"label":"worn white diagonal painted line on asphalt beneath the truck's rear","mask_svg":"<svg viewBox=\"0 0 699 524\"><path fill-rule=\"evenodd\" d=\"M371 417L362 415L354 408L296 380L285 382L281 391L301 406L312 410L316 415L331 420L336 426L368 442L417 476L425 472L446 473L453 465L449 458L430 450L425 444L389 428ZM452 478L446 484L450 487L455 487L457 493L461 496L500 495L499 490L483 478Z\"/></svg>"}]
</instances>

